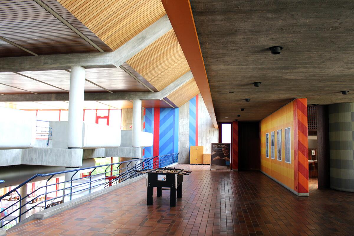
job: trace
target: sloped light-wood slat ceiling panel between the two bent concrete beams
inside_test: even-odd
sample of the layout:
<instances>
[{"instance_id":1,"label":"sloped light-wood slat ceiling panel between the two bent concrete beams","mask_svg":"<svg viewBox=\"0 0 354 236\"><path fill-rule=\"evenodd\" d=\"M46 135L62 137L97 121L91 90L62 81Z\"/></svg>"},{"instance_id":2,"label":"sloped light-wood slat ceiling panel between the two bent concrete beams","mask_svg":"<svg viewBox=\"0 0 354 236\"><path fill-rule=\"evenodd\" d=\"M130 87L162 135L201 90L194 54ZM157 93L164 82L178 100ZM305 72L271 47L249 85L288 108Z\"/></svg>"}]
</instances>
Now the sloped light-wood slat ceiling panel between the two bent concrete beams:
<instances>
[{"instance_id":1,"label":"sloped light-wood slat ceiling panel between the two bent concrete beams","mask_svg":"<svg viewBox=\"0 0 354 236\"><path fill-rule=\"evenodd\" d=\"M173 29L127 63L159 91L190 70Z\"/></svg>"}]
</instances>

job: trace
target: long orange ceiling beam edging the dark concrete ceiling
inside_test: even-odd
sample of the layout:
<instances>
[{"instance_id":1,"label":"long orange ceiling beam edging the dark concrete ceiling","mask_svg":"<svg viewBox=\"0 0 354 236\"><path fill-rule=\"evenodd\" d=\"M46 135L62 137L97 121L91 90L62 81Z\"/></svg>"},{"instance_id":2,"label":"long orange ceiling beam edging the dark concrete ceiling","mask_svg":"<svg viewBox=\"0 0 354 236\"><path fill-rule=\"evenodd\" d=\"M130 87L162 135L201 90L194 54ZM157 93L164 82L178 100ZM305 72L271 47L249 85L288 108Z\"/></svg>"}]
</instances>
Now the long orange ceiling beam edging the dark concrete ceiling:
<instances>
[{"instance_id":1,"label":"long orange ceiling beam edging the dark concrete ceiling","mask_svg":"<svg viewBox=\"0 0 354 236\"><path fill-rule=\"evenodd\" d=\"M161 0L161 2L165 7L165 11L170 19L178 42L181 45L185 59L187 59L194 80L204 99L213 125L215 128L218 128L209 82L189 0Z\"/></svg>"}]
</instances>

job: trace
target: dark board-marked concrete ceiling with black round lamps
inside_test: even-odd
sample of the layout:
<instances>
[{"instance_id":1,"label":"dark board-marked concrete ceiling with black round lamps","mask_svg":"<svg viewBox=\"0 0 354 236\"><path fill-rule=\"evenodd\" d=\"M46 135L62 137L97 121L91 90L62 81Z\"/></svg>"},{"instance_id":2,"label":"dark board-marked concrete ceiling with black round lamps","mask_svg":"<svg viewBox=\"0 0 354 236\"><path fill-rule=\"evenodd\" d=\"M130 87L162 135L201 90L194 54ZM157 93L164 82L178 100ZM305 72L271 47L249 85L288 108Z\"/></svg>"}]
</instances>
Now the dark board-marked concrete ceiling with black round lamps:
<instances>
[{"instance_id":1,"label":"dark board-marked concrete ceiling with black round lamps","mask_svg":"<svg viewBox=\"0 0 354 236\"><path fill-rule=\"evenodd\" d=\"M354 101L354 1L190 4L218 121L261 120L299 97L308 104ZM271 54L268 47L277 45L281 54Z\"/></svg>"}]
</instances>

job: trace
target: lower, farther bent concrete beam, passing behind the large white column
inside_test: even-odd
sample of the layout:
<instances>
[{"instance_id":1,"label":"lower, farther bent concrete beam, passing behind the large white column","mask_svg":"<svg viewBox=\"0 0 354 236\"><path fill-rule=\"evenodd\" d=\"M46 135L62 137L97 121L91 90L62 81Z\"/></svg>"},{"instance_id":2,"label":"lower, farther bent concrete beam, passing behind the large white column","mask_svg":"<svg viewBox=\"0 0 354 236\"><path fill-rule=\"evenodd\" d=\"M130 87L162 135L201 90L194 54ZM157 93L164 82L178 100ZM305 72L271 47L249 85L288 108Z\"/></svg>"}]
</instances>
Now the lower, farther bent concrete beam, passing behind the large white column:
<instances>
[{"instance_id":1,"label":"lower, farther bent concrete beam, passing behind the large white column","mask_svg":"<svg viewBox=\"0 0 354 236\"><path fill-rule=\"evenodd\" d=\"M85 93L85 101L104 100L162 100L193 78L191 71L188 71L177 80L173 81L160 92L116 92L116 93ZM46 93L46 94L7 94L0 97L0 102L39 102L39 101L68 101L68 93Z\"/></svg>"}]
</instances>

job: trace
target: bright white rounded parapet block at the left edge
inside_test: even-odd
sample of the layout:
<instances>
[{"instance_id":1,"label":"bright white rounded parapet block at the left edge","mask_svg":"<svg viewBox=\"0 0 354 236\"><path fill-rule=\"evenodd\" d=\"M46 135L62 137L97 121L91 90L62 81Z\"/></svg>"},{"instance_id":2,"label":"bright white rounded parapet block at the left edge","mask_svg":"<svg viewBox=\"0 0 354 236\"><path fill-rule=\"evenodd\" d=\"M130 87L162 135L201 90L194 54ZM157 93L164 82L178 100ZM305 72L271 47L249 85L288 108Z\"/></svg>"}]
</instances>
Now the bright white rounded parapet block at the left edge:
<instances>
[{"instance_id":1,"label":"bright white rounded parapet block at the left edge","mask_svg":"<svg viewBox=\"0 0 354 236\"><path fill-rule=\"evenodd\" d=\"M35 114L4 107L0 107L0 114L0 149L32 148L35 145Z\"/></svg>"}]
</instances>

